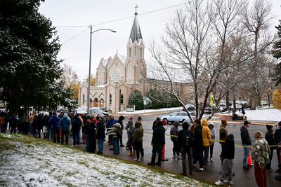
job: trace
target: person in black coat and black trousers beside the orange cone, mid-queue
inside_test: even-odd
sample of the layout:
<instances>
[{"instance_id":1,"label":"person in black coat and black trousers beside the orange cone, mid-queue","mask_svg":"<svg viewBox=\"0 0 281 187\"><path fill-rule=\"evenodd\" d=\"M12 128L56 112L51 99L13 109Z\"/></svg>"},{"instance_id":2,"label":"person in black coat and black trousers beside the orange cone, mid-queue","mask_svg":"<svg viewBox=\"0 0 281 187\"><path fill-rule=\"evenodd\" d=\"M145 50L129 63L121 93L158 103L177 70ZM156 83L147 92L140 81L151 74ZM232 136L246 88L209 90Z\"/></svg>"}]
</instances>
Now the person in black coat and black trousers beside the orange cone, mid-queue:
<instances>
[{"instance_id":1,"label":"person in black coat and black trousers beside the orange cone, mid-queue","mask_svg":"<svg viewBox=\"0 0 281 187\"><path fill-rule=\"evenodd\" d=\"M151 157L151 162L148 163L148 165L151 166L161 166L161 161L162 161L162 148L165 144L165 128L163 127L162 121L159 121L157 123L157 127L153 131L152 135L152 157ZM156 158L156 153L158 153L158 162L155 163L155 158Z\"/></svg>"}]
</instances>

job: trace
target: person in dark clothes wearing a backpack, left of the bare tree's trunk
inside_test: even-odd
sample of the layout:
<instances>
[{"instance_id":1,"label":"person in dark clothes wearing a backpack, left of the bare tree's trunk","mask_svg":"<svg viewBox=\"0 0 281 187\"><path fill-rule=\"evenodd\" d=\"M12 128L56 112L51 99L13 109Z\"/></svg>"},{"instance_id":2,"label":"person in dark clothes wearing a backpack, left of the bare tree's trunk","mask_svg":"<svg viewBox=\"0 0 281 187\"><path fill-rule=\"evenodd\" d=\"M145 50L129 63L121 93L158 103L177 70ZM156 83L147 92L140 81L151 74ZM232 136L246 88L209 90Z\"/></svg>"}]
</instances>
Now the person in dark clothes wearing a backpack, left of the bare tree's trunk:
<instances>
[{"instance_id":1,"label":"person in dark clothes wearing a backpack, left of the bare tree's trunk","mask_svg":"<svg viewBox=\"0 0 281 187\"><path fill-rule=\"evenodd\" d=\"M189 174L192 175L192 156L191 156L191 147L193 144L192 133L188 130L189 123L183 123L183 129L178 132L178 146L181 148L181 157L183 172L182 175L187 176L186 172L186 155L188 155L188 169Z\"/></svg>"}]
</instances>

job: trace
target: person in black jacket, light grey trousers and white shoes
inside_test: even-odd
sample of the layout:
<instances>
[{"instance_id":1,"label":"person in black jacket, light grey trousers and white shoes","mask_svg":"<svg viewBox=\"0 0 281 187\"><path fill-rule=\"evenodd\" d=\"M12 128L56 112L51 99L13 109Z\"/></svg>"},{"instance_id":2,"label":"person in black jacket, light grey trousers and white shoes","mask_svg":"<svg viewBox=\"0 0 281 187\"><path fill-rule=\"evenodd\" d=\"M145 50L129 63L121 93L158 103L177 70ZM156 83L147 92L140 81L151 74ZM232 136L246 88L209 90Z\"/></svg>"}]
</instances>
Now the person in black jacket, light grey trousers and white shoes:
<instances>
[{"instance_id":1,"label":"person in black jacket, light grey trousers and white shoes","mask_svg":"<svg viewBox=\"0 0 281 187\"><path fill-rule=\"evenodd\" d=\"M226 132L221 134L221 138L225 137L224 144L222 144L221 159L223 165L221 166L221 179L215 182L215 185L223 185L228 183L233 185L233 159L235 155L234 136L233 134L227 135ZM225 182L226 178L228 181Z\"/></svg>"}]
</instances>

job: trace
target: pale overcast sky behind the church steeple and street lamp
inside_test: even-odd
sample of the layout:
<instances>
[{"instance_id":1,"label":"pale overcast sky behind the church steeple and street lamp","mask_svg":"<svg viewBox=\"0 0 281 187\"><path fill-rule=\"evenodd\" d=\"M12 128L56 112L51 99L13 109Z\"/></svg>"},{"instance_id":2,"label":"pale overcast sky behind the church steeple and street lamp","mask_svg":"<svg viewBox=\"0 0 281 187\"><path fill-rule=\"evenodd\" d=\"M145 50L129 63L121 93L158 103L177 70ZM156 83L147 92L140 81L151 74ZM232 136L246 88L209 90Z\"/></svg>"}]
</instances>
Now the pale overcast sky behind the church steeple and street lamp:
<instances>
[{"instance_id":1,"label":"pale overcast sky behind the church steeple and street lamp","mask_svg":"<svg viewBox=\"0 0 281 187\"><path fill-rule=\"evenodd\" d=\"M208 1L208 0L206 0ZM269 0L273 4L273 25L278 25L281 20L281 1ZM138 21L141 25L143 41L146 44L145 60L149 63L148 42L159 39L164 32L166 23L171 20L176 6L186 0L46 0L41 3L39 11L50 18L53 26L57 27L60 43L58 58L70 65L77 72L79 79L86 78L89 74L89 27L63 27L63 26L89 26L96 29L115 29L117 33L100 31L92 35L92 60L91 72L96 73L96 67L102 57L113 57L118 50L120 55L126 55L126 43L129 40L135 6L138 5ZM175 6L168 8L170 6ZM166 8L162 11L155 11ZM148 13L150 11L155 11ZM141 15L142 13L148 13ZM127 17L132 18L127 18ZM115 22L117 20L126 18ZM105 23L98 25L100 23ZM274 28L271 29L276 31ZM81 34L79 34L81 33ZM76 36L79 34L78 36ZM74 37L75 36L75 37ZM74 37L74 38L73 38ZM73 38L73 39L72 39Z\"/></svg>"}]
</instances>

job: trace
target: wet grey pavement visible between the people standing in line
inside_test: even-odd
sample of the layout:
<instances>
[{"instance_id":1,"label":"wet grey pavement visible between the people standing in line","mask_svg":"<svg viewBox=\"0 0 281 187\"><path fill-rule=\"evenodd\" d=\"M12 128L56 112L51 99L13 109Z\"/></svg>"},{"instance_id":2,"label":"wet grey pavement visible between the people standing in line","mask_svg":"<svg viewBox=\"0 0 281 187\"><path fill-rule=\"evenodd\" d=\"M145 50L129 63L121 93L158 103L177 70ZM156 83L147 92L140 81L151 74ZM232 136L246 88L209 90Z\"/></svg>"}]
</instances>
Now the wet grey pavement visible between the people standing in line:
<instances>
[{"instance_id":1,"label":"wet grey pavement visible between the people standing in line","mask_svg":"<svg viewBox=\"0 0 281 187\"><path fill-rule=\"evenodd\" d=\"M170 111L171 113L172 111ZM110 151L107 143L105 143L105 151L103 151L104 155L110 156L112 158L119 158L122 160L128 160L133 163L139 164L139 165L147 165L148 162L150 162L150 158L152 155L152 146L150 146L150 141L152 138L152 122L157 117L162 116L161 114L151 114L148 116L142 116L143 118L143 128L144 128L144 137L143 137L143 148L145 152L145 160L141 162L135 162L133 161L134 158L127 156L129 151L126 150L126 148L120 148L120 154L119 155L113 155L113 151ZM135 121L138 116L133 116L133 120ZM125 117L124 123L128 121L129 117ZM214 127L216 128L217 132L219 129L220 123L219 120L214 120ZM240 127L242 126L241 123L237 123L235 121L234 123L228 122L228 133L234 134L235 137L235 144L241 144L240 139ZM171 128L171 124L166 125L168 129L166 130L166 158L169 159L169 161L162 162L161 169L164 169L169 172L173 172L178 174L182 170L181 166L181 160L173 159L172 158L172 142L169 137L169 132ZM179 127L181 129L181 127ZM260 130L261 132L266 132L266 126L265 125L251 125L249 127L249 133L251 136L253 136L255 130ZM218 133L216 134L216 139L218 139ZM254 137L252 138L254 140ZM124 144L126 143L126 132L123 134L123 141ZM254 143L254 141L253 141ZM70 145L72 144L72 138L70 138ZM84 144L81 144L80 148L82 150L85 150ZM200 179L202 181L208 181L210 183L214 183L219 179L219 173L221 171L221 160L219 159L219 155L221 153L221 146L219 144L215 144L214 146L214 162L208 162L207 167L204 168L204 172L194 172L193 176L191 176L194 179ZM246 171L242 169L242 155L243 150L240 147L235 147L235 159L233 160L233 172L235 172L235 176L233 178L234 185L233 186L256 186L256 181L254 179L254 168L249 169L249 171ZM198 163L197 163L198 165ZM277 169L277 157L276 152L273 155L273 162L272 162L273 169ZM276 181L274 179L276 173L268 173L268 186L280 186L281 182Z\"/></svg>"}]
</instances>

